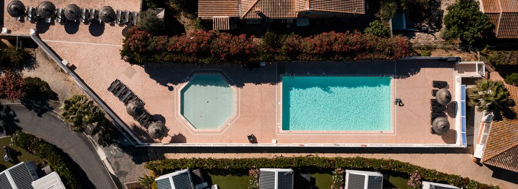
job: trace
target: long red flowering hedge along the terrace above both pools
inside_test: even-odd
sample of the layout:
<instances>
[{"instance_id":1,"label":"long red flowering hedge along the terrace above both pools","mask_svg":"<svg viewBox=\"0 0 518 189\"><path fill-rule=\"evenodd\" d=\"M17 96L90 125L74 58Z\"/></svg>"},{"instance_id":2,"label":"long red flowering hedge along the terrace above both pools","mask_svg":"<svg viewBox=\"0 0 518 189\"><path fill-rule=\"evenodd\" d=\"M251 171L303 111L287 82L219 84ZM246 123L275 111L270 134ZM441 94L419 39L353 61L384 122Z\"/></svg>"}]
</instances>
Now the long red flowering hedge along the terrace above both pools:
<instances>
[{"instance_id":1,"label":"long red flowering hedge along the terrace above both pools","mask_svg":"<svg viewBox=\"0 0 518 189\"><path fill-rule=\"evenodd\" d=\"M279 46L259 38L233 36L219 31L194 31L191 35L152 36L134 29L124 40L121 57L131 64L179 62L187 64L241 64L250 60L326 61L399 59L412 56L410 43L402 37L382 38L358 31L322 33L312 37L282 37Z\"/></svg>"}]
</instances>

